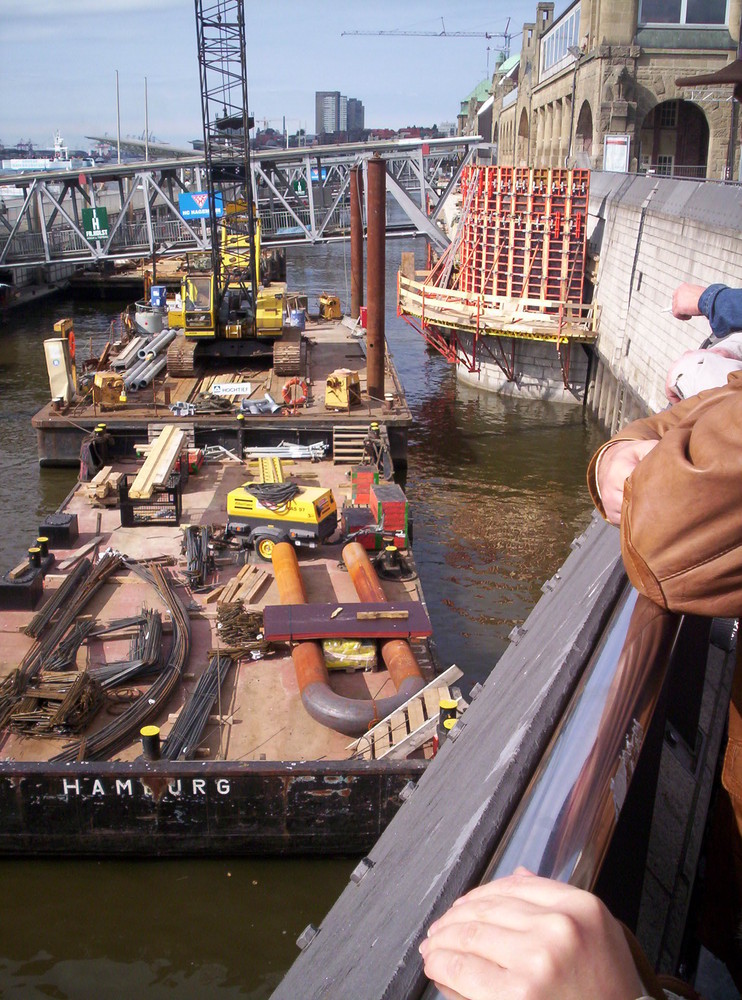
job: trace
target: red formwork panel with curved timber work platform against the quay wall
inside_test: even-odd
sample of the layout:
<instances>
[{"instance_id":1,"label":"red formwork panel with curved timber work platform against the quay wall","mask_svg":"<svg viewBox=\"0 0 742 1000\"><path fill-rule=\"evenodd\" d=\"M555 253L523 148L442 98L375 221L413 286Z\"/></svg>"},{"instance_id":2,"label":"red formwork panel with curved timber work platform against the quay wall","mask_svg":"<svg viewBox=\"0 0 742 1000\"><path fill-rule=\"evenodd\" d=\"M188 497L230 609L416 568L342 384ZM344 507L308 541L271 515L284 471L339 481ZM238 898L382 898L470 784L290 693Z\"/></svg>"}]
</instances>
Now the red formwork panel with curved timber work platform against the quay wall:
<instances>
[{"instance_id":1,"label":"red formwork panel with curved timber work platform against the quay wall","mask_svg":"<svg viewBox=\"0 0 742 1000\"><path fill-rule=\"evenodd\" d=\"M476 372L486 354L509 380L518 340L552 342L566 385L571 343L596 335L583 302L589 195L588 170L467 167L454 239L429 271L400 274L400 315L451 363Z\"/></svg>"}]
</instances>

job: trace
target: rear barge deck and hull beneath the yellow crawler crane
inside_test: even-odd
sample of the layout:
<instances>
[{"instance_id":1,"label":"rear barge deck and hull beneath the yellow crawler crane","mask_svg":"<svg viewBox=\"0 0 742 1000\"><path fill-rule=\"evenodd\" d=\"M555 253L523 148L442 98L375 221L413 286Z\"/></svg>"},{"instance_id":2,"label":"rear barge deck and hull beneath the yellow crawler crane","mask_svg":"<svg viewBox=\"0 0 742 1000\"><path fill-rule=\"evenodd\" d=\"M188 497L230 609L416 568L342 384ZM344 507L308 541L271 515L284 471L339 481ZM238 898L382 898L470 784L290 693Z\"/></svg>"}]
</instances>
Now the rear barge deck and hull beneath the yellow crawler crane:
<instances>
[{"instance_id":1,"label":"rear barge deck and hull beneath the yellow crawler crane","mask_svg":"<svg viewBox=\"0 0 742 1000\"><path fill-rule=\"evenodd\" d=\"M387 356L383 393L369 395L362 335L355 322L346 325L342 319L308 317L305 329L296 331L294 337L300 363L284 367L230 362L192 377L163 373L146 389L126 392L125 401L121 401L118 381L109 383L113 388L103 382L96 391L94 379L98 375L100 381L102 372L97 369L98 359L91 358L83 364L83 368L91 366L91 391L65 402L60 390L32 418L39 463L77 466L84 438L93 435L101 423L113 438L115 453L133 456L134 446L147 439L147 428L167 422L185 427L195 447L215 445L236 451L240 443L266 447L321 440L335 453L354 437L362 439L369 424L376 421L386 428L395 466L404 467L412 423L404 391ZM57 339L64 341L64 333ZM358 401L348 405L347 393L341 391L334 400L337 407L327 409L328 379L343 378L335 374L337 370L358 373Z\"/></svg>"}]
</instances>

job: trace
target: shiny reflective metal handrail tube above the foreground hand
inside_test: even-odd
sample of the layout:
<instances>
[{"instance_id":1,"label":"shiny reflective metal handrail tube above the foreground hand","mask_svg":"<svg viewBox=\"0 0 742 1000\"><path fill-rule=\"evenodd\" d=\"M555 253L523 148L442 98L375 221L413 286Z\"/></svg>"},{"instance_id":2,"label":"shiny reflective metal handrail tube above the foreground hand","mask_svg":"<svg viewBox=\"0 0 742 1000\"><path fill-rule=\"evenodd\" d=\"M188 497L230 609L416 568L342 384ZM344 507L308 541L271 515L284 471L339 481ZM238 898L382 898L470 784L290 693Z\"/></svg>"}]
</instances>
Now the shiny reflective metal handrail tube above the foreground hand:
<instances>
[{"instance_id":1,"label":"shiny reflective metal handrail tube above the foreground hand","mask_svg":"<svg viewBox=\"0 0 742 1000\"><path fill-rule=\"evenodd\" d=\"M590 889L616 828L682 619L628 587L482 883L530 871ZM444 1000L434 984L423 1000Z\"/></svg>"}]
</instances>

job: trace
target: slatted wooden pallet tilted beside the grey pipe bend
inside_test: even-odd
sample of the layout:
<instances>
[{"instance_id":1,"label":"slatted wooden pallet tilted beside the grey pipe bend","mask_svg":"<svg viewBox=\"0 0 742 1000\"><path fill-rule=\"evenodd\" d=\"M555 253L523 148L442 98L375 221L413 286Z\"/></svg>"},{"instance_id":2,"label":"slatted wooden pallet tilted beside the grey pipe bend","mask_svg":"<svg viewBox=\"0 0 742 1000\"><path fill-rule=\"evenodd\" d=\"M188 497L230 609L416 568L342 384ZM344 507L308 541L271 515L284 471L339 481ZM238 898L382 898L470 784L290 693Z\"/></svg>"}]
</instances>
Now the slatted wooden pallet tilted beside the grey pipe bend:
<instances>
[{"instance_id":1,"label":"slatted wooden pallet tilted beside the grey pipe bend","mask_svg":"<svg viewBox=\"0 0 742 1000\"><path fill-rule=\"evenodd\" d=\"M364 760L407 757L435 734L440 701L452 697L450 685L463 675L456 665L448 667L422 691L351 743L348 749L353 749ZM461 712L466 702L461 697L457 701Z\"/></svg>"}]
</instances>

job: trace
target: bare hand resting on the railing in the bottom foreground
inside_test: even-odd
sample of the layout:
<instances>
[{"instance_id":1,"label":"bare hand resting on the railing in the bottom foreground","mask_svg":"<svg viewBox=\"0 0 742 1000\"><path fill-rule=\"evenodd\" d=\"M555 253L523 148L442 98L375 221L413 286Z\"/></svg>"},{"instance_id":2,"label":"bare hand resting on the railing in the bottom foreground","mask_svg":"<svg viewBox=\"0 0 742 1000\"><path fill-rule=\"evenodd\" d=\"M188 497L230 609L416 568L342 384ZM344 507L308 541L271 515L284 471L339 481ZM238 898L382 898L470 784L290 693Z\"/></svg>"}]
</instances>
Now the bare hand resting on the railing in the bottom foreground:
<instances>
[{"instance_id":1,"label":"bare hand resting on the railing in the bottom foreground","mask_svg":"<svg viewBox=\"0 0 742 1000\"><path fill-rule=\"evenodd\" d=\"M458 899L420 945L451 1000L635 1000L644 993L621 925L589 892L532 875Z\"/></svg>"}]
</instances>

